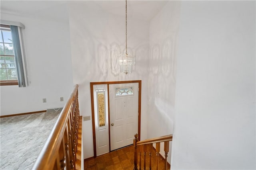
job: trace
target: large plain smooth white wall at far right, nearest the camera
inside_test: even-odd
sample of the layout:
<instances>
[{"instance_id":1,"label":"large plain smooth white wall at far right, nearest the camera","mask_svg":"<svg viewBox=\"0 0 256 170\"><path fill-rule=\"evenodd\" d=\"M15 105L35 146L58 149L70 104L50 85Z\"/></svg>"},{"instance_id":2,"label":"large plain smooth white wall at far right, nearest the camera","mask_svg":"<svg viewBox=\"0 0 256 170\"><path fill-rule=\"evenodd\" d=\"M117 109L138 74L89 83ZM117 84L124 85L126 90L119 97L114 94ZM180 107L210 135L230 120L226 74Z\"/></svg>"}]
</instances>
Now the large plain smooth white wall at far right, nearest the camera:
<instances>
[{"instance_id":1,"label":"large plain smooth white wall at far right, nearest the camera","mask_svg":"<svg viewBox=\"0 0 256 170\"><path fill-rule=\"evenodd\" d=\"M172 169L255 169L255 1L181 3Z\"/></svg>"}]
</instances>

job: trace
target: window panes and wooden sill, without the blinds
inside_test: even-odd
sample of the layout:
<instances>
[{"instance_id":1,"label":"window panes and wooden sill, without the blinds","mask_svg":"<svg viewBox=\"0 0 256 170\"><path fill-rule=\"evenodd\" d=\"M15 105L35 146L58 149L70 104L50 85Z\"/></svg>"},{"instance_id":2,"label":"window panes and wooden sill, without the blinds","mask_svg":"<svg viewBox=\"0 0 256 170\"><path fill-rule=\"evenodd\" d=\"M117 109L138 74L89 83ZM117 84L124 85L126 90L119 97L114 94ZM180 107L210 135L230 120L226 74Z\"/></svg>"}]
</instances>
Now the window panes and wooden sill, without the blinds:
<instances>
[{"instance_id":1,"label":"window panes and wooden sill, without the blinds","mask_svg":"<svg viewBox=\"0 0 256 170\"><path fill-rule=\"evenodd\" d=\"M12 33L10 25L1 24L0 35L0 80L1 85L18 85L15 57L12 44Z\"/></svg>"}]
</instances>

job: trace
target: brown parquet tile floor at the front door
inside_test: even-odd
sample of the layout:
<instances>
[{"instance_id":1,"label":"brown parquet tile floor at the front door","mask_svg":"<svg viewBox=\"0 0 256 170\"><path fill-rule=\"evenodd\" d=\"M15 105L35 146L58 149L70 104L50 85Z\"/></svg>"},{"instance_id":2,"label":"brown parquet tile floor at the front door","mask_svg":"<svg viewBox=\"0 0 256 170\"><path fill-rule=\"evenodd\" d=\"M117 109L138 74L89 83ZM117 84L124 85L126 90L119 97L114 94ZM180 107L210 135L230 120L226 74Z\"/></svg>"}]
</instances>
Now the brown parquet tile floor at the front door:
<instances>
[{"instance_id":1,"label":"brown parquet tile floor at the front door","mask_svg":"<svg viewBox=\"0 0 256 170\"><path fill-rule=\"evenodd\" d=\"M144 154L141 154L142 169L144 167ZM156 170L156 151L152 149L152 170ZM138 156L138 169L140 158ZM159 170L164 170L165 160L159 158ZM146 169L149 169L150 156L146 154ZM134 168L134 146L114 150L110 153L85 160L84 170L133 170ZM168 166L168 170L170 166Z\"/></svg>"}]
</instances>

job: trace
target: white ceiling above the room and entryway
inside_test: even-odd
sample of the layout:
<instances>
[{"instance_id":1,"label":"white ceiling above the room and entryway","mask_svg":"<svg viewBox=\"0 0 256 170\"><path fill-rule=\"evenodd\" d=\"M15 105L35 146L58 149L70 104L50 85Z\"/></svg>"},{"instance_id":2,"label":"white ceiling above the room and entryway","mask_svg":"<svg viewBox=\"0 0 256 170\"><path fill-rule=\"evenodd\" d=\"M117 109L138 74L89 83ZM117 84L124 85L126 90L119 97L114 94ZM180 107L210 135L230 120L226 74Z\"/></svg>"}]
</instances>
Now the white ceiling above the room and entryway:
<instances>
[{"instance_id":1,"label":"white ceiling above the room and entryway","mask_svg":"<svg viewBox=\"0 0 256 170\"><path fill-rule=\"evenodd\" d=\"M167 2L168 0L128 0L128 17L150 21ZM67 6L72 3L92 3L111 14L125 16L124 0L1 0L0 7L1 13L68 21Z\"/></svg>"}]
</instances>

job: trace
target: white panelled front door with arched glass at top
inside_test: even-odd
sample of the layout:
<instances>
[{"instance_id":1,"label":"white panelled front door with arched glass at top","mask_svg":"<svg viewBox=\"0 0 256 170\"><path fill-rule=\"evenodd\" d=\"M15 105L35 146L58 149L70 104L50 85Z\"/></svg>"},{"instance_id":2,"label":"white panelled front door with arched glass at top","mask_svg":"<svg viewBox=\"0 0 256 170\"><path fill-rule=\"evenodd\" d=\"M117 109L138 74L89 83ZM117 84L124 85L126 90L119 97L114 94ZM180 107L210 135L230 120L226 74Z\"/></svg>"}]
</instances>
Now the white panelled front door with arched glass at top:
<instances>
[{"instance_id":1,"label":"white panelled front door with arched glass at top","mask_svg":"<svg viewBox=\"0 0 256 170\"><path fill-rule=\"evenodd\" d=\"M110 150L133 144L138 133L138 83L110 84Z\"/></svg>"}]
</instances>

